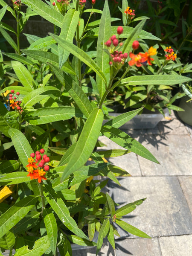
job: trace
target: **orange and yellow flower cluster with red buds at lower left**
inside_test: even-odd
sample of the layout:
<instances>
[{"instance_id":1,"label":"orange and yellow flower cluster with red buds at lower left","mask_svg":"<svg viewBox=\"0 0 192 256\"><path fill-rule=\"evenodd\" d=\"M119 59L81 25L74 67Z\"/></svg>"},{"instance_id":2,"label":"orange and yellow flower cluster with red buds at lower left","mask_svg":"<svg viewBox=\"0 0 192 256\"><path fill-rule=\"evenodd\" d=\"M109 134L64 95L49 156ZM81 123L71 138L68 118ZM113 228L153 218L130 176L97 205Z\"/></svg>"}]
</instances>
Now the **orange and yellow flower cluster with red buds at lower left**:
<instances>
[{"instance_id":1,"label":"orange and yellow flower cluster with red buds at lower left","mask_svg":"<svg viewBox=\"0 0 192 256\"><path fill-rule=\"evenodd\" d=\"M30 157L28 158L28 165L27 172L31 180L37 179L38 183L41 183L42 179L47 180L45 177L46 171L49 171L49 166L45 165L45 163L49 162L49 157L47 157L46 154L44 154L45 150L43 148L39 151L36 151L35 153L30 154ZM41 154L44 154L43 157L41 157ZM34 157L36 155L36 159L34 160ZM42 158L42 159L41 159ZM34 162L35 161L35 162ZM37 166L38 163L38 166Z\"/></svg>"}]
</instances>

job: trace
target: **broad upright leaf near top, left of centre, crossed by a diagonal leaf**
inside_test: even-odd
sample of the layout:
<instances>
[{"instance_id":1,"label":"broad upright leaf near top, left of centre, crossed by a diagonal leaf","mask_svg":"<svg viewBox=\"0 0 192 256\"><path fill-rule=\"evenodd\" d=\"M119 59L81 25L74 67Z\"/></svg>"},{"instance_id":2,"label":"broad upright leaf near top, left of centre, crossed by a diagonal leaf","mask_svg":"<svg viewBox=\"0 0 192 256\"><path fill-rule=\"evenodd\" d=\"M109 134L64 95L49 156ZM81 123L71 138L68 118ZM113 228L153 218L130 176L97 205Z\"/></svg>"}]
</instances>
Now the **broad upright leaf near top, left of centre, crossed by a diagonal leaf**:
<instances>
[{"instance_id":1,"label":"broad upright leaf near top, left of centre, crossed by a diagonal leaf","mask_svg":"<svg viewBox=\"0 0 192 256\"><path fill-rule=\"evenodd\" d=\"M76 32L78 21L79 12L75 11L74 9L70 9L64 16L64 20L61 26L61 34L59 35L59 37L64 38L70 43L73 43L73 38ZM63 49L63 47L58 44L59 68L61 68L65 61L67 61L69 55L70 52L66 49Z\"/></svg>"}]
</instances>

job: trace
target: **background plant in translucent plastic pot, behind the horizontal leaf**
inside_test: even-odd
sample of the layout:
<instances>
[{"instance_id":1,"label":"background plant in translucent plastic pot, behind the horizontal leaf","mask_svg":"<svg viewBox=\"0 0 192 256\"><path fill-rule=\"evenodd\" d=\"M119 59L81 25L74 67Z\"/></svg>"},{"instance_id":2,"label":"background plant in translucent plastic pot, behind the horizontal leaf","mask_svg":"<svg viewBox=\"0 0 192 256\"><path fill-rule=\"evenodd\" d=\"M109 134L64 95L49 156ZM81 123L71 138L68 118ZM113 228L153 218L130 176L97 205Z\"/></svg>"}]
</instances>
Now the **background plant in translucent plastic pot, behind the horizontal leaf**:
<instances>
[{"instance_id":1,"label":"background plant in translucent plastic pot, behind the horizontal leaf","mask_svg":"<svg viewBox=\"0 0 192 256\"><path fill-rule=\"evenodd\" d=\"M183 111L182 108L174 105L177 99L184 96L177 86L182 77L175 78L178 77L177 74L189 72L190 67L181 64L174 50L164 45L160 46L159 52L153 50L155 47L159 48L158 45L154 45L154 48L149 49L148 53L152 58L142 62L145 54L140 52L140 48L145 51L147 46L142 40L140 42L134 41L133 52L137 51L138 53L131 53L131 60L128 62L130 65L128 75L134 75L134 79L123 78L116 87L113 87L105 102L110 116L117 116L119 113L125 113L134 108L143 108L122 128L154 128L163 117L169 115L171 110ZM136 58L137 61L135 61ZM160 74L166 74L167 79L162 79L161 82L149 81L151 75L159 78ZM174 75L176 76L174 77ZM175 93L173 89L177 92Z\"/></svg>"}]
</instances>

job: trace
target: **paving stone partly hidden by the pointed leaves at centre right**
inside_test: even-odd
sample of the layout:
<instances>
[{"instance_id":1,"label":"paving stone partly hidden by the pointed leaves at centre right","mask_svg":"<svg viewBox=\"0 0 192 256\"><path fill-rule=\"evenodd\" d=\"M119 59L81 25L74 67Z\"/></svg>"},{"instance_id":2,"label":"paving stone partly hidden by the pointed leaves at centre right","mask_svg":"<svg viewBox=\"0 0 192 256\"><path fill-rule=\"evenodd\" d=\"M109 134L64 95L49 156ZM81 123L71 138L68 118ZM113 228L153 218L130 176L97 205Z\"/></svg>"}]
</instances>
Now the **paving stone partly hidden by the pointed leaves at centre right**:
<instances>
[{"instance_id":1,"label":"paving stone partly hidden by the pointed leaves at centre right","mask_svg":"<svg viewBox=\"0 0 192 256\"><path fill-rule=\"evenodd\" d=\"M105 136L99 137L99 140L107 146L97 147L98 150L122 149L121 146L117 145ZM120 157L110 157L108 158L108 161L124 169L132 176L141 176L137 155L132 152Z\"/></svg>"}]
</instances>

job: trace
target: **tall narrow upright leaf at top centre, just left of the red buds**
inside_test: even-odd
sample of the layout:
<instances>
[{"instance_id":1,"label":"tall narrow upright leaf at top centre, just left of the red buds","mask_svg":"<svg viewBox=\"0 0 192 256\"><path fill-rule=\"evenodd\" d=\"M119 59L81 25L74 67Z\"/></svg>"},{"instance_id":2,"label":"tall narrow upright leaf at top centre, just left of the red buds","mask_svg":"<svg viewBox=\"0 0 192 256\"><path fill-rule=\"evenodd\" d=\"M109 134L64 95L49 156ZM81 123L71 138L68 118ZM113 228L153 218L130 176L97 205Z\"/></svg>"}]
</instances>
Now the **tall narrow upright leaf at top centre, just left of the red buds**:
<instances>
[{"instance_id":1,"label":"tall narrow upright leaf at top centre, just left of the red buds","mask_svg":"<svg viewBox=\"0 0 192 256\"><path fill-rule=\"evenodd\" d=\"M99 26L99 35L97 41L97 65L100 67L104 73L107 83L110 79L110 65L108 64L108 53L104 51L105 42L111 37L111 16L108 6L108 1L105 1L100 26ZM102 98L105 93L105 81L99 76L96 75L97 86L99 90L100 97Z\"/></svg>"}]
</instances>

